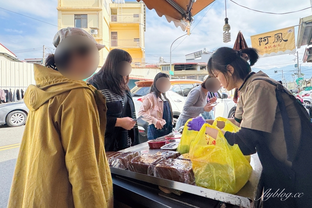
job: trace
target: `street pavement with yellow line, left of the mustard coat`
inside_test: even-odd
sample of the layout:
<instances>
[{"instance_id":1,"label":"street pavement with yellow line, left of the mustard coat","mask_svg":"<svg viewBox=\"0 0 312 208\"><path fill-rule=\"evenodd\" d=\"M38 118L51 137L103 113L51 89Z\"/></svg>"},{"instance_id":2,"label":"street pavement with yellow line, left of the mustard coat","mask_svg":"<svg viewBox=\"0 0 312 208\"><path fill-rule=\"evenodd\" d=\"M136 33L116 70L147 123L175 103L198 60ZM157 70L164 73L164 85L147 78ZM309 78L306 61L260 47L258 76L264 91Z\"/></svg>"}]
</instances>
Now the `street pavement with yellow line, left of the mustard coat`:
<instances>
[{"instance_id":1,"label":"street pavement with yellow line, left of the mustard coat","mask_svg":"<svg viewBox=\"0 0 312 208\"><path fill-rule=\"evenodd\" d=\"M19 145L25 126L0 125L0 208L7 207Z\"/></svg>"}]
</instances>

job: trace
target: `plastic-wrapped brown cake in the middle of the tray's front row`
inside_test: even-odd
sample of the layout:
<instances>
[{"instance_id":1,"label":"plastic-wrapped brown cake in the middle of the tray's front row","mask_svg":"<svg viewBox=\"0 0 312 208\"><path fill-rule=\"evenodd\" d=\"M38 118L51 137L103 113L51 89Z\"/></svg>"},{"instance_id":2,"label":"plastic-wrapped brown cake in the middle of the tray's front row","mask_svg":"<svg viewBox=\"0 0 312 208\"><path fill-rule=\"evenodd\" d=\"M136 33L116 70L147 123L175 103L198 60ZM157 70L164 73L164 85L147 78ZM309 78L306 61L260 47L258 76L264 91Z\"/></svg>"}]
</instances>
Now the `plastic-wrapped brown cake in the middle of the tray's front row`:
<instances>
[{"instance_id":1,"label":"plastic-wrapped brown cake in the middle of the tray's front row","mask_svg":"<svg viewBox=\"0 0 312 208\"><path fill-rule=\"evenodd\" d=\"M153 176L154 167L165 160L164 156L159 155L140 155L128 162L129 171Z\"/></svg>"}]
</instances>

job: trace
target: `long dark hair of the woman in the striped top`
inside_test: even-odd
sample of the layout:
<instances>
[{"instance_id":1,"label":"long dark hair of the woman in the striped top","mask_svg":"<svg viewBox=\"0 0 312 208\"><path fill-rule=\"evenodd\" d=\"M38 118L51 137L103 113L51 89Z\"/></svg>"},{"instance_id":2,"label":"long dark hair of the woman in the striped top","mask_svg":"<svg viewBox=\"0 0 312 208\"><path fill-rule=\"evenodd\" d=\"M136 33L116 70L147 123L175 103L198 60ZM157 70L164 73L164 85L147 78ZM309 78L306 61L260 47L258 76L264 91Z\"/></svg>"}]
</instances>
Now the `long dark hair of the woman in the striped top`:
<instances>
[{"instance_id":1,"label":"long dark hair of the woman in the striped top","mask_svg":"<svg viewBox=\"0 0 312 208\"><path fill-rule=\"evenodd\" d=\"M117 65L122 61L131 63L132 58L130 54L118 48L111 50L106 57L103 67L99 72L89 78L87 82L94 82L99 87L99 90L108 89L123 96L123 91L129 91L130 89L127 85L129 75L124 78L117 71Z\"/></svg>"}]
</instances>

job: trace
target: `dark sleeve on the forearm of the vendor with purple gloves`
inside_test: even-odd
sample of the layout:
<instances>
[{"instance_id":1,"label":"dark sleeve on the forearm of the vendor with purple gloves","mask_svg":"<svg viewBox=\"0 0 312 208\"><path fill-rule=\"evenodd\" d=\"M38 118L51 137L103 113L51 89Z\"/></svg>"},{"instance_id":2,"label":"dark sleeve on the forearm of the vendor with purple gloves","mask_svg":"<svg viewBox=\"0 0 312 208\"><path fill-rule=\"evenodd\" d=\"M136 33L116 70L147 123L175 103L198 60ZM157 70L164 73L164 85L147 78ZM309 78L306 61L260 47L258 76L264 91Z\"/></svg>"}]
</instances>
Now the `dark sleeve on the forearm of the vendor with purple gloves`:
<instances>
[{"instance_id":1,"label":"dark sleeve on the forearm of the vendor with purple gloves","mask_svg":"<svg viewBox=\"0 0 312 208\"><path fill-rule=\"evenodd\" d=\"M237 144L243 155L252 155L257 152L256 145L263 140L262 135L262 131L241 127L236 133L226 131L224 137L231 146Z\"/></svg>"}]
</instances>

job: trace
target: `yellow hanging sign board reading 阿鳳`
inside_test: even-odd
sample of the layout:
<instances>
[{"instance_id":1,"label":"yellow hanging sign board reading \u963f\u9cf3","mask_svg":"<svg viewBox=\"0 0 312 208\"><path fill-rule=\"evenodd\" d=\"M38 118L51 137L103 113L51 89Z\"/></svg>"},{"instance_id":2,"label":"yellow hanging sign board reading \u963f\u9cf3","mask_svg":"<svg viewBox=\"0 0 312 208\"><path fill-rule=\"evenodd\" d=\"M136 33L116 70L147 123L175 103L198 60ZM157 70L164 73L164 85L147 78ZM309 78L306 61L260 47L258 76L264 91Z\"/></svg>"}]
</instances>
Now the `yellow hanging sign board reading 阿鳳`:
<instances>
[{"instance_id":1,"label":"yellow hanging sign board reading \u963f\u9cf3","mask_svg":"<svg viewBox=\"0 0 312 208\"><path fill-rule=\"evenodd\" d=\"M261 58L296 52L294 26L252 35L250 39L251 46L259 50Z\"/></svg>"}]
</instances>

